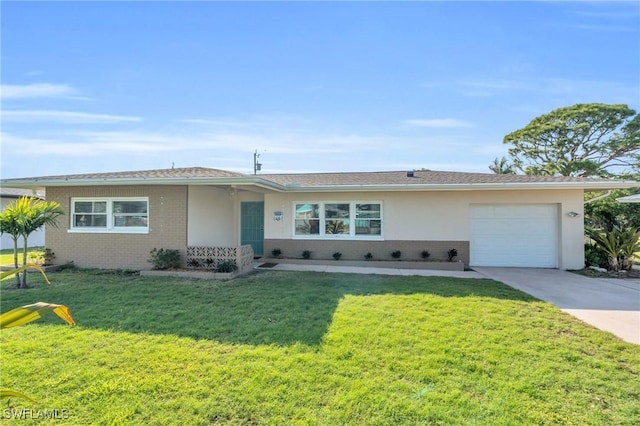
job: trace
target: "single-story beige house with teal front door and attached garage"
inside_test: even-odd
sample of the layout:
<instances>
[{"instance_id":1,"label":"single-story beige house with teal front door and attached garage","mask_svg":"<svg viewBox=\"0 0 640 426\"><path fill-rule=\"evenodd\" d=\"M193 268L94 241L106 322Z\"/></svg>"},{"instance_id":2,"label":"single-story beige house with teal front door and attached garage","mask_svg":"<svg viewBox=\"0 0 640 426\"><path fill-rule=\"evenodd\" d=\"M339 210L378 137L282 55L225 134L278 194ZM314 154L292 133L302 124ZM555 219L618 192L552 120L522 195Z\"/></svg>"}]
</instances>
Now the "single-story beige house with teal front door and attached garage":
<instances>
[{"instance_id":1,"label":"single-story beige house with teal front door and attached garage","mask_svg":"<svg viewBox=\"0 0 640 426\"><path fill-rule=\"evenodd\" d=\"M238 247L314 259L446 258L580 269L585 191L640 182L457 172L245 175L183 168L9 179L68 212L47 229L58 262L148 269L153 248Z\"/></svg>"}]
</instances>

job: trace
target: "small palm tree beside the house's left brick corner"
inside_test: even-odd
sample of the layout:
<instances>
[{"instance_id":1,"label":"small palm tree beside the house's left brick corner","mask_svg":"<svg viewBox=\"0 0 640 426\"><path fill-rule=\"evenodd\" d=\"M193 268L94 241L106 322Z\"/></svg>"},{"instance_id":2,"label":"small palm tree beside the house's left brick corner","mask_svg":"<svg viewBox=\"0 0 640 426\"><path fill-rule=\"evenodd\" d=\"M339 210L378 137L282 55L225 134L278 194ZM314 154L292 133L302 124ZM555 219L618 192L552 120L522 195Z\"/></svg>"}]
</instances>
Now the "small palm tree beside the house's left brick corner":
<instances>
[{"instance_id":1,"label":"small palm tree beside the house's left brick corner","mask_svg":"<svg viewBox=\"0 0 640 426\"><path fill-rule=\"evenodd\" d=\"M55 201L44 201L36 197L20 197L15 203L9 204L0 213L0 231L11 235L13 239L13 263L18 267L18 238L22 237L22 264L27 263L29 235L45 225L58 226L58 217L64 210ZM22 281L16 274L18 288L27 288L27 272L22 272Z\"/></svg>"}]
</instances>

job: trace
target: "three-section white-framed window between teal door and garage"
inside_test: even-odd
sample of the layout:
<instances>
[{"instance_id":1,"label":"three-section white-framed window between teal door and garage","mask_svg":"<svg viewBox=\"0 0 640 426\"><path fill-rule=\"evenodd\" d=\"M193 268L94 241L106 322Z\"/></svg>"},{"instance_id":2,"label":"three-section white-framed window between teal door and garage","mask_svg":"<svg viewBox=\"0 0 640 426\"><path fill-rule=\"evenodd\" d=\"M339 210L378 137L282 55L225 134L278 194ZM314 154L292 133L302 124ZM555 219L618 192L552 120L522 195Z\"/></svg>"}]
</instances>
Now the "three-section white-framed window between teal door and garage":
<instances>
[{"instance_id":1,"label":"three-section white-framed window between teal door and garage","mask_svg":"<svg viewBox=\"0 0 640 426\"><path fill-rule=\"evenodd\" d=\"M381 238L382 204L295 203L294 235L324 238Z\"/></svg>"}]
</instances>

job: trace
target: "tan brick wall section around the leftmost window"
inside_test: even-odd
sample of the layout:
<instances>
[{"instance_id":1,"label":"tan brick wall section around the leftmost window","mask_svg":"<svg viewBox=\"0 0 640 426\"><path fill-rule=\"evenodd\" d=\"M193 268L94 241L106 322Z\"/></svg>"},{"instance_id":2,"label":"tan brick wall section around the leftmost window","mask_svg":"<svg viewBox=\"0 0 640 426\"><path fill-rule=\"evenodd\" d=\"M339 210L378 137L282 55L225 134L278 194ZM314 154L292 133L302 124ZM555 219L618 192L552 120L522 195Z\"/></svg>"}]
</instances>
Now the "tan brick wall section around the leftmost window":
<instances>
[{"instance_id":1,"label":"tan brick wall section around the leftmost window","mask_svg":"<svg viewBox=\"0 0 640 426\"><path fill-rule=\"evenodd\" d=\"M80 267L151 269L153 248L178 249L184 259L187 195L186 186L49 187L47 200L59 202L66 215L59 228L47 227L47 247L55 263ZM149 233L69 233L72 197L149 197Z\"/></svg>"}]
</instances>

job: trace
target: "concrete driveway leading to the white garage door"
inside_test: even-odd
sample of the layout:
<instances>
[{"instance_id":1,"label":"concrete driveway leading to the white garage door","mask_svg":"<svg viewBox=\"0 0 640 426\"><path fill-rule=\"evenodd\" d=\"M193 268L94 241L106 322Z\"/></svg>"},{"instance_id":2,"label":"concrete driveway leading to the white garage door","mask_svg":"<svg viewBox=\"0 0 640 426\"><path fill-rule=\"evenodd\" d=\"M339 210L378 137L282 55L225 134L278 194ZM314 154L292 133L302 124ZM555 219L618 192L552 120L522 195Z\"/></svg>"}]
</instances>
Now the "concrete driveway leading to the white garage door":
<instances>
[{"instance_id":1,"label":"concrete driveway leading to the white garage door","mask_svg":"<svg viewBox=\"0 0 640 426\"><path fill-rule=\"evenodd\" d=\"M624 341L640 344L640 280L589 278L557 269L473 269Z\"/></svg>"}]
</instances>

